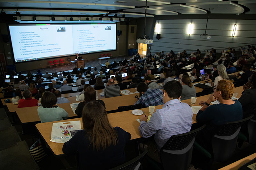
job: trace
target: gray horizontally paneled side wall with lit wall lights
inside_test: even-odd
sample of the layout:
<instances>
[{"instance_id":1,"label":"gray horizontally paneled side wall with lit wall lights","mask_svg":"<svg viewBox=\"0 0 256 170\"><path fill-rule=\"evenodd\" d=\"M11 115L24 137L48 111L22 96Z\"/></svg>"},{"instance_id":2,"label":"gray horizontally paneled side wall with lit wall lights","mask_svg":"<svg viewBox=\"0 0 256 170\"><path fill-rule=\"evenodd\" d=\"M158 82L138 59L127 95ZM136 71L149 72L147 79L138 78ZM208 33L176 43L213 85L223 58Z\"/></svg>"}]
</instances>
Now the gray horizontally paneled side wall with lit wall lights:
<instances>
[{"instance_id":1,"label":"gray horizontally paneled side wall with lit wall lights","mask_svg":"<svg viewBox=\"0 0 256 170\"><path fill-rule=\"evenodd\" d=\"M153 44L151 52L159 51L183 51L188 52L200 49L201 51L215 49L225 49L228 47L237 48L254 44L256 41L256 22L255 20L241 19L209 19L207 31L211 39L202 39L200 34L205 32L206 19L169 19L156 20L161 29L160 40L156 39L156 29L153 33ZM188 34L188 24L193 24L192 34ZM234 24L236 36L232 37ZM220 51L219 50L219 51ZM217 50L218 51L218 50Z\"/></svg>"}]
</instances>

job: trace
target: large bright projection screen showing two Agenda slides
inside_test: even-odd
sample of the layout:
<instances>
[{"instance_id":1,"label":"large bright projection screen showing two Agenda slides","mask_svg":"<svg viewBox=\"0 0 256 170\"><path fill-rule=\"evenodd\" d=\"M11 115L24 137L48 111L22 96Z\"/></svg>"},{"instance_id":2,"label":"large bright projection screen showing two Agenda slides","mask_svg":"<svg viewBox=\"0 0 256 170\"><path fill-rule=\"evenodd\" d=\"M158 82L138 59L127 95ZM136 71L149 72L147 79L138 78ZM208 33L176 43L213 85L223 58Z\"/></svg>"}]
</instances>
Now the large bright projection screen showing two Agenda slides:
<instances>
[{"instance_id":1,"label":"large bright projection screen showing two Agenda slides","mask_svg":"<svg viewBox=\"0 0 256 170\"><path fill-rule=\"evenodd\" d=\"M15 62L116 50L116 24L9 25Z\"/></svg>"}]
</instances>

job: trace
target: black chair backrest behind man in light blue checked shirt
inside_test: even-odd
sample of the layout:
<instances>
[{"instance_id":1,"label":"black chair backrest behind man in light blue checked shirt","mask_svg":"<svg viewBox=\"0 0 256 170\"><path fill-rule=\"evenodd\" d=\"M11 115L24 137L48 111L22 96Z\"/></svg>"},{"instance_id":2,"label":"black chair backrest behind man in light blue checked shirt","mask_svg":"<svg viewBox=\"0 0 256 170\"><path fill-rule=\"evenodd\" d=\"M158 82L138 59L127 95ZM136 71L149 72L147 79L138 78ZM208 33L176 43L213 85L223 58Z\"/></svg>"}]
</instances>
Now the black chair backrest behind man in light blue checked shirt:
<instances>
[{"instance_id":1,"label":"black chair backrest behind man in light blue checked shirt","mask_svg":"<svg viewBox=\"0 0 256 170\"><path fill-rule=\"evenodd\" d=\"M164 169L188 169L192 159L192 146L195 137L205 126L170 137L160 150L160 158Z\"/></svg>"}]
</instances>

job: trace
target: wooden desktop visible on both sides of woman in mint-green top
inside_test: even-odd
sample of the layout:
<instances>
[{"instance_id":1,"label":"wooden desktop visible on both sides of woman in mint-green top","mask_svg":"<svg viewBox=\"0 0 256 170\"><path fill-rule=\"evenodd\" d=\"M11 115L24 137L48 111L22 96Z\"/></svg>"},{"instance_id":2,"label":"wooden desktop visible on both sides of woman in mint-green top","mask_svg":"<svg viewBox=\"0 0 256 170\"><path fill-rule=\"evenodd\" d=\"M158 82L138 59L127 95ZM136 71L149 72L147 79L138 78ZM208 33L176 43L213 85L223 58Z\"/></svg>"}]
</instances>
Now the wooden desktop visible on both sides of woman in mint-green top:
<instances>
[{"instance_id":1,"label":"wooden desktop visible on both sides of woman in mint-green top","mask_svg":"<svg viewBox=\"0 0 256 170\"><path fill-rule=\"evenodd\" d=\"M73 113L71 107L69 106L70 104L71 103L62 103L62 104L58 104L58 106L66 110L66 112L68 113L68 117L77 116L76 114ZM40 122L41 120L37 113L38 107L39 106L16 108L15 112L20 118L21 123Z\"/></svg>"}]
</instances>

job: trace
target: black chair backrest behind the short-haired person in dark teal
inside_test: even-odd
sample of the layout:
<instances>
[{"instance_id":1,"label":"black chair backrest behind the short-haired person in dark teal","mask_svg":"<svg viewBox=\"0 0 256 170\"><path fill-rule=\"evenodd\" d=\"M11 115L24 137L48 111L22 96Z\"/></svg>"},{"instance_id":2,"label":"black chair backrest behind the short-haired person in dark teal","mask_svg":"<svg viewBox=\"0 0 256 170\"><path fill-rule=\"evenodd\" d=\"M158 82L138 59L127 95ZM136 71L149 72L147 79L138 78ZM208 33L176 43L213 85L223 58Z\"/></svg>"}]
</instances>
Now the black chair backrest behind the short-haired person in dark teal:
<instances>
[{"instance_id":1,"label":"black chair backrest behind the short-haired person in dark teal","mask_svg":"<svg viewBox=\"0 0 256 170\"><path fill-rule=\"evenodd\" d=\"M253 115L247 115L242 120L225 123L217 130L212 137L212 151L215 161L225 162L232 157L241 126L252 117Z\"/></svg>"}]
</instances>

